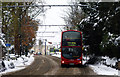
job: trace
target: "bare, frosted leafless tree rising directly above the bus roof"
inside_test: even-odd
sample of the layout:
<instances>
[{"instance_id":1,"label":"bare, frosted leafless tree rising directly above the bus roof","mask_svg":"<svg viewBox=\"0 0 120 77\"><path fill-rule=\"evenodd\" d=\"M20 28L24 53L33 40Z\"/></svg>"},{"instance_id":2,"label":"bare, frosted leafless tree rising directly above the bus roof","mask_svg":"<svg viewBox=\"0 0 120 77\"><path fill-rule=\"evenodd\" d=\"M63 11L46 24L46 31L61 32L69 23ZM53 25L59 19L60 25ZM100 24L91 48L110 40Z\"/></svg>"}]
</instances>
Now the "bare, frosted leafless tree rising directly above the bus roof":
<instances>
[{"instance_id":1,"label":"bare, frosted leafless tree rising directly above the bus roof","mask_svg":"<svg viewBox=\"0 0 120 77\"><path fill-rule=\"evenodd\" d=\"M73 4L77 5L77 2ZM66 29L77 29L77 25L85 18L85 14L79 6L71 6L65 12L66 14L62 18L67 25L72 25L72 27L65 27Z\"/></svg>"}]
</instances>

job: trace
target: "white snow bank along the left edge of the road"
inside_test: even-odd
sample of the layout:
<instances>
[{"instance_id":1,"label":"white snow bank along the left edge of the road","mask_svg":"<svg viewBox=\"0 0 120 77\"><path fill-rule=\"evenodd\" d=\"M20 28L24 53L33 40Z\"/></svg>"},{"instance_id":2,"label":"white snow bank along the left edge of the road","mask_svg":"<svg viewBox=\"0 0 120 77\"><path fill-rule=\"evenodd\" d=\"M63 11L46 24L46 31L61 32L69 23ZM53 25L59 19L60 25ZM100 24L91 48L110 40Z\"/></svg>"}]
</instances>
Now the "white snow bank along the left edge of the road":
<instances>
[{"instance_id":1,"label":"white snow bank along the left edge of the road","mask_svg":"<svg viewBox=\"0 0 120 77\"><path fill-rule=\"evenodd\" d=\"M0 75L24 69L26 66L30 65L33 61L34 61L33 55L30 55L29 57L21 56L17 58L17 60L10 60L10 61L4 60L6 70L0 72ZM14 63L15 66L15 68L13 69L10 69L8 66L11 62Z\"/></svg>"}]
</instances>

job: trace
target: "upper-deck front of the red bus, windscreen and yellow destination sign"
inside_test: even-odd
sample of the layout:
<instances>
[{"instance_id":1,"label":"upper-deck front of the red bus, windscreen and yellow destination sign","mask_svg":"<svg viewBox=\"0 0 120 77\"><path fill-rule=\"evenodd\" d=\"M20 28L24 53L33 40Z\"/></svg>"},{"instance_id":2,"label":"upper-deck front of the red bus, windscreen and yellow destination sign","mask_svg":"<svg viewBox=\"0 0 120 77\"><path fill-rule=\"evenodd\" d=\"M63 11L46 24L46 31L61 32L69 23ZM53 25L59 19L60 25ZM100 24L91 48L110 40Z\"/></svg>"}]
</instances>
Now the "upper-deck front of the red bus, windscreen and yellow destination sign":
<instances>
[{"instance_id":1,"label":"upper-deck front of the red bus, windscreen and yellow destination sign","mask_svg":"<svg viewBox=\"0 0 120 77\"><path fill-rule=\"evenodd\" d=\"M62 46L81 46L80 32L63 32Z\"/></svg>"}]
</instances>

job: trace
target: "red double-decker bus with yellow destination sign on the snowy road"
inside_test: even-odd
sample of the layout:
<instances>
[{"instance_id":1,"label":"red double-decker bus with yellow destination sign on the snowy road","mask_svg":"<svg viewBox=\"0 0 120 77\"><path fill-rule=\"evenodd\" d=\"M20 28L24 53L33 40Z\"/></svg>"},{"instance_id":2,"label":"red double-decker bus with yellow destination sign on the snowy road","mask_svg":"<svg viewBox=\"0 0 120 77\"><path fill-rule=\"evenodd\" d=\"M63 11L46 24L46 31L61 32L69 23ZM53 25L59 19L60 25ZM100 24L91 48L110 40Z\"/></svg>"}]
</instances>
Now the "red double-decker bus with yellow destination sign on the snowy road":
<instances>
[{"instance_id":1,"label":"red double-decker bus with yellow destination sign on the snowy road","mask_svg":"<svg viewBox=\"0 0 120 77\"><path fill-rule=\"evenodd\" d=\"M61 66L82 65L82 33L63 31L61 39Z\"/></svg>"}]
</instances>

